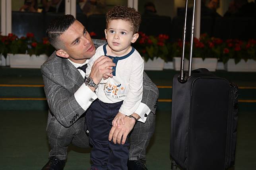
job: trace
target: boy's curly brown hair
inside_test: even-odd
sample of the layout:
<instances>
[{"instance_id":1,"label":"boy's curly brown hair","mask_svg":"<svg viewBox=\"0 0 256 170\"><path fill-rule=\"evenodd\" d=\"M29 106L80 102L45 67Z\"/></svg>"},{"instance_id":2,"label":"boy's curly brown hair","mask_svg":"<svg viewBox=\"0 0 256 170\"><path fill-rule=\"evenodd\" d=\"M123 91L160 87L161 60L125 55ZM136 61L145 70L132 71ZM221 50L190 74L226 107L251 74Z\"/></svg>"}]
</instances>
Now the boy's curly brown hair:
<instances>
[{"instance_id":1,"label":"boy's curly brown hair","mask_svg":"<svg viewBox=\"0 0 256 170\"><path fill-rule=\"evenodd\" d=\"M133 33L137 33L140 28L140 23L142 21L141 15L134 8L130 8L127 6L115 6L111 10L106 13L106 22L108 27L108 23L114 19L122 19L124 21L129 21L132 26Z\"/></svg>"}]
</instances>

